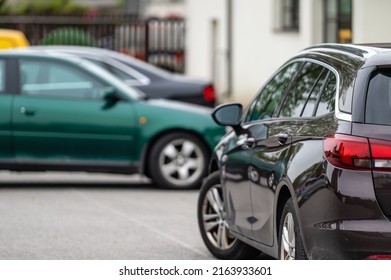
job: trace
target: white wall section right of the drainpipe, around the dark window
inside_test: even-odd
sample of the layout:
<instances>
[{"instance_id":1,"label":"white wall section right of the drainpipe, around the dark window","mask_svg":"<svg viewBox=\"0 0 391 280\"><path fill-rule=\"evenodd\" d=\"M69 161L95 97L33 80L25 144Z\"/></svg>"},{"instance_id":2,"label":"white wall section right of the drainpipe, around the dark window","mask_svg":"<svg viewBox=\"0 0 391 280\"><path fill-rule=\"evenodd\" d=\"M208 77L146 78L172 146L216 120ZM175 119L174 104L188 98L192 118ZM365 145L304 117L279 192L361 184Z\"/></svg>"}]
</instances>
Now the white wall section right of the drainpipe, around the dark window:
<instances>
[{"instance_id":1,"label":"white wall section right of the drainpipe, around the dark window","mask_svg":"<svg viewBox=\"0 0 391 280\"><path fill-rule=\"evenodd\" d=\"M317 43L314 5L320 0L300 1L299 32L276 30L275 0L235 2L233 98L248 103L270 75L301 49Z\"/></svg>"}]
</instances>

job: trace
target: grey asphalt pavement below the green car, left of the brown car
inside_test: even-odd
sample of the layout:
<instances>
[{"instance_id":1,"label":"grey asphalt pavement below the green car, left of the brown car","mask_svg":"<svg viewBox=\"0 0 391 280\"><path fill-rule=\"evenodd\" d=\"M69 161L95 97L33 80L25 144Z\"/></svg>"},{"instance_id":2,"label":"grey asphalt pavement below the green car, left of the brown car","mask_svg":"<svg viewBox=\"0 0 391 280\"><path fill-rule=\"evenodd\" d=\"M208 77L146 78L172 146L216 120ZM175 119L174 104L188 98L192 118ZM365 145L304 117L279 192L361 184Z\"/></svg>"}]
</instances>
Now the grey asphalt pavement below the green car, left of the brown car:
<instances>
[{"instance_id":1,"label":"grey asphalt pavement below the green car, left of the brown car","mask_svg":"<svg viewBox=\"0 0 391 280\"><path fill-rule=\"evenodd\" d=\"M0 171L0 259L213 259L197 196L138 175Z\"/></svg>"}]
</instances>

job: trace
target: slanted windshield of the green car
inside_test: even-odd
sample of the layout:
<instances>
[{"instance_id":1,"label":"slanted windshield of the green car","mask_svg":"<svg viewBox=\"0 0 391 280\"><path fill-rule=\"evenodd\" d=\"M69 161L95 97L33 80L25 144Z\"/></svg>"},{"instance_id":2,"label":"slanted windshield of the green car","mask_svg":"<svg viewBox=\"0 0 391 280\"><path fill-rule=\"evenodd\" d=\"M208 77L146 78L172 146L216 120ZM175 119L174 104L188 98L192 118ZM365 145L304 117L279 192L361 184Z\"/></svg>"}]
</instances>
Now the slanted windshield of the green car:
<instances>
[{"instance_id":1,"label":"slanted windshield of the green car","mask_svg":"<svg viewBox=\"0 0 391 280\"><path fill-rule=\"evenodd\" d=\"M126 94L131 99L137 99L137 100L146 99L146 95L142 91L140 91L134 87L130 87L129 85L125 84L123 81L118 79L116 76L111 74L109 71L103 69L102 67L100 67L98 65L95 65L94 63L92 63L86 59L82 59L81 61L82 61L81 63L83 64L83 66L85 68L94 72L97 76L103 78L105 81L110 83L110 85L119 89L121 92Z\"/></svg>"}]
</instances>

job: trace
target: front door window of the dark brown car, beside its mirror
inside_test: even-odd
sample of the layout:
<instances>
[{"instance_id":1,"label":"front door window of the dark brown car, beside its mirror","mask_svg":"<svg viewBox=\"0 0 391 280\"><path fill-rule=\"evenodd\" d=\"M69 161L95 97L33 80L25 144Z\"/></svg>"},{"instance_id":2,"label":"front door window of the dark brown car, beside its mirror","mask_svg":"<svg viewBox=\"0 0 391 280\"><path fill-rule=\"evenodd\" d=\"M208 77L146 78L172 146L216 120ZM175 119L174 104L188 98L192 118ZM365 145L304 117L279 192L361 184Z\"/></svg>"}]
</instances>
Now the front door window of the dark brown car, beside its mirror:
<instances>
[{"instance_id":1,"label":"front door window of the dark brown car, beside its mirror","mask_svg":"<svg viewBox=\"0 0 391 280\"><path fill-rule=\"evenodd\" d=\"M245 122L271 118L281 97L289 86L292 77L298 71L301 62L294 62L280 70L262 89L250 104Z\"/></svg>"}]
</instances>

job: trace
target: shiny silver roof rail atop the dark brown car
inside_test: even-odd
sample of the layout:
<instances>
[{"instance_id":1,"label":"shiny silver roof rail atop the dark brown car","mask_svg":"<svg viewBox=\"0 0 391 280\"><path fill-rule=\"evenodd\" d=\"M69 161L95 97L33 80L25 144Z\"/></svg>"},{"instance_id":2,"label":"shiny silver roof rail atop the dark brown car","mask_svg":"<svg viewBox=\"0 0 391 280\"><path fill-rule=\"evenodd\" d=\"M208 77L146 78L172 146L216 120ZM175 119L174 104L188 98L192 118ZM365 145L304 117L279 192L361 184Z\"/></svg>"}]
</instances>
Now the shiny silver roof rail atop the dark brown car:
<instances>
[{"instance_id":1,"label":"shiny silver roof rail atop the dark brown car","mask_svg":"<svg viewBox=\"0 0 391 280\"><path fill-rule=\"evenodd\" d=\"M389 44L391 47L391 44ZM342 52L347 52L359 57L367 58L372 55L375 55L378 53L376 51L376 46L372 44L363 44L363 45L358 45L358 44L318 44L318 45L313 45L308 48L305 48L304 51L307 50L316 50L316 49L330 49L330 50L338 50Z\"/></svg>"}]
</instances>

